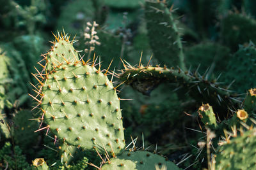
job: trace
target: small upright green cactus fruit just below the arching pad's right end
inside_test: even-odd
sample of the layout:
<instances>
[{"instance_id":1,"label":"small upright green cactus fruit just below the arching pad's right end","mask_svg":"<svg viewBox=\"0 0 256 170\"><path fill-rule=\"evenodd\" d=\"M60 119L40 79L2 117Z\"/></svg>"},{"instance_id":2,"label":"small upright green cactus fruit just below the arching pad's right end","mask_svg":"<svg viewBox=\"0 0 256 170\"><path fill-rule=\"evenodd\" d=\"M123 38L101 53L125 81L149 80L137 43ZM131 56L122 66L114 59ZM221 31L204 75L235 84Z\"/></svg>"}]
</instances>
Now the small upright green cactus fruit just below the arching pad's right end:
<instances>
[{"instance_id":1,"label":"small upright green cactus fruit just below the arching pad's right end","mask_svg":"<svg viewBox=\"0 0 256 170\"><path fill-rule=\"evenodd\" d=\"M210 129L215 129L217 126L216 117L212 110L212 106L209 104L203 104L200 106L199 110L199 117L201 118L202 122L205 124L206 127Z\"/></svg>"}]
</instances>

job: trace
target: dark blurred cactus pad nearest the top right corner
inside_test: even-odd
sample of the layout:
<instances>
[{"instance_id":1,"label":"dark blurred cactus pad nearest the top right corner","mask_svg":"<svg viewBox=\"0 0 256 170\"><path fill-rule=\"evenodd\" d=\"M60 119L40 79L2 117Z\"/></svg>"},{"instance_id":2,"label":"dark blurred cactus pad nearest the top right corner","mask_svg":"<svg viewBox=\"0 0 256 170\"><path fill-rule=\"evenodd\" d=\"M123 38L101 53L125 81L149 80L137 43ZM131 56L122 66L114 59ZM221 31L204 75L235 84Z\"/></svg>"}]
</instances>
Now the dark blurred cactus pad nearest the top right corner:
<instances>
[{"instance_id":1,"label":"dark blurred cactus pad nearest the top right corner","mask_svg":"<svg viewBox=\"0 0 256 170\"><path fill-rule=\"evenodd\" d=\"M231 13L221 21L221 36L223 43L233 52L238 45L256 41L256 21L246 15Z\"/></svg>"}]
</instances>

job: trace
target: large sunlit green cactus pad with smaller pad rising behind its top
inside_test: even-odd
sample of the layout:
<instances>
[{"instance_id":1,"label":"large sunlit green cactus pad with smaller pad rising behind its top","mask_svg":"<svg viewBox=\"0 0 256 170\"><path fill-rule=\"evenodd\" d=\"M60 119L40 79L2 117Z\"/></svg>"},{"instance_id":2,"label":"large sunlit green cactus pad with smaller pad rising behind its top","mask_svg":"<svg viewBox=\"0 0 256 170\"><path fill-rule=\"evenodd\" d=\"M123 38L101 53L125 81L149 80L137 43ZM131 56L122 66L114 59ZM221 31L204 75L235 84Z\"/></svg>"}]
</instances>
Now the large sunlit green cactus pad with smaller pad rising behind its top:
<instances>
[{"instance_id":1,"label":"large sunlit green cactus pad with smaller pad rising behind its top","mask_svg":"<svg viewBox=\"0 0 256 170\"><path fill-rule=\"evenodd\" d=\"M58 138L86 150L122 152L124 131L116 90L94 61L92 66L80 62L72 48L65 48L65 53L60 42L69 43L66 38L57 38L58 45L55 42L45 55L45 76L40 74L43 80L38 80L42 98L33 97L48 124L43 129L50 128Z\"/></svg>"}]
</instances>

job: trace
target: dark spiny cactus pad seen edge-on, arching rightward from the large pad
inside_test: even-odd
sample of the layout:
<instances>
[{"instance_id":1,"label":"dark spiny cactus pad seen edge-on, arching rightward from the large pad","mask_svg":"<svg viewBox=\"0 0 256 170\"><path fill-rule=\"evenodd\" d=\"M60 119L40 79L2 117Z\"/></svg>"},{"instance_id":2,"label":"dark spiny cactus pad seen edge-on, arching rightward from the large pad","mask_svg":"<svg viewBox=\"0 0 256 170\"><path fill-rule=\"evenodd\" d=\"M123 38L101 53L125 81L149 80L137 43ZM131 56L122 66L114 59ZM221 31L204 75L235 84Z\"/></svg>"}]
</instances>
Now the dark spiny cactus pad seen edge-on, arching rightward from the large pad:
<instances>
[{"instance_id":1,"label":"dark spiny cactus pad seen edge-on, arching rightward from the large pad","mask_svg":"<svg viewBox=\"0 0 256 170\"><path fill-rule=\"evenodd\" d=\"M207 76L206 76L207 77ZM134 89L147 94L155 89L159 83L177 83L199 103L207 102L216 108L227 110L228 106L237 103L236 95L218 86L214 81L204 79L198 73L184 72L180 69L166 67L138 66L127 67L118 74L120 81L131 85Z\"/></svg>"}]
</instances>

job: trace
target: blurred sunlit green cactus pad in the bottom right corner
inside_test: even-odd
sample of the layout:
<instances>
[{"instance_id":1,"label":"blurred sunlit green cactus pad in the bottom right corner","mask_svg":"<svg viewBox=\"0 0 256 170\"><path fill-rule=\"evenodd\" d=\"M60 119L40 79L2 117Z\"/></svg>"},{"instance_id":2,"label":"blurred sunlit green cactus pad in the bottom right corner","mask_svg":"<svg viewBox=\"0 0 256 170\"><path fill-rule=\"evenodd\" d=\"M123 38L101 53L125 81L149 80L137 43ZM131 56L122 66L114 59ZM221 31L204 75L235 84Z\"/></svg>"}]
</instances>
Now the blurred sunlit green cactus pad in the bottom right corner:
<instances>
[{"instance_id":1,"label":"blurred sunlit green cactus pad in the bottom right corner","mask_svg":"<svg viewBox=\"0 0 256 170\"><path fill-rule=\"evenodd\" d=\"M216 169L255 169L255 145L255 128L227 141L216 153Z\"/></svg>"}]
</instances>

